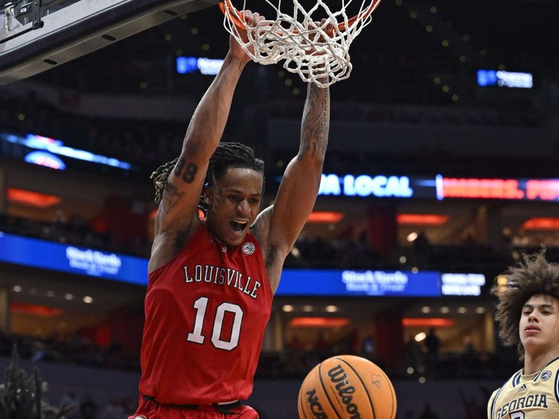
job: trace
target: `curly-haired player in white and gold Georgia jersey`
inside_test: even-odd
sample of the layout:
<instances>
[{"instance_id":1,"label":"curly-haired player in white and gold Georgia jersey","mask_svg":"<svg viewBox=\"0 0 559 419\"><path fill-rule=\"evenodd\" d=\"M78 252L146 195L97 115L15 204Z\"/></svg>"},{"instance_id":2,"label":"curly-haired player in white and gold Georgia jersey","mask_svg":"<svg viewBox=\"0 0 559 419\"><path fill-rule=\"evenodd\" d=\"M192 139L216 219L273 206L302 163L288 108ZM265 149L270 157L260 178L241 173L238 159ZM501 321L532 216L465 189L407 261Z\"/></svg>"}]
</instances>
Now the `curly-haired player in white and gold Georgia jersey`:
<instances>
[{"instance_id":1,"label":"curly-haired player in white and gold Georgia jersey","mask_svg":"<svg viewBox=\"0 0 559 419\"><path fill-rule=\"evenodd\" d=\"M507 272L495 318L504 344L517 345L524 367L491 395L488 419L559 419L559 264L544 252Z\"/></svg>"}]
</instances>

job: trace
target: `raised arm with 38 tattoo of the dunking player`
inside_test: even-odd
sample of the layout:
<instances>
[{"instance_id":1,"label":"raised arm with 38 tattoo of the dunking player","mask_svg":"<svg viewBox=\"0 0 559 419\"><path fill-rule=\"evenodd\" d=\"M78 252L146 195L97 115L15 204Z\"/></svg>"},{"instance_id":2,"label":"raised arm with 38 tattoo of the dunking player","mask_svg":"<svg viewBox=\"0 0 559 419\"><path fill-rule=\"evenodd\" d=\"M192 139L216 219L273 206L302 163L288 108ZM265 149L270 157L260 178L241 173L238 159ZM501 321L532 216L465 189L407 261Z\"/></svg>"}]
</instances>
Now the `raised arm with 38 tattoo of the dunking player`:
<instances>
[{"instance_id":1,"label":"raised arm with 38 tattoo of the dunking player","mask_svg":"<svg viewBox=\"0 0 559 419\"><path fill-rule=\"evenodd\" d=\"M261 20L245 13L247 22ZM231 110L233 93L249 57L233 37L224 64L205 92L190 120L182 151L171 170L155 219L150 272L174 256L177 247L198 227L198 201L208 162L221 140Z\"/></svg>"}]
</instances>

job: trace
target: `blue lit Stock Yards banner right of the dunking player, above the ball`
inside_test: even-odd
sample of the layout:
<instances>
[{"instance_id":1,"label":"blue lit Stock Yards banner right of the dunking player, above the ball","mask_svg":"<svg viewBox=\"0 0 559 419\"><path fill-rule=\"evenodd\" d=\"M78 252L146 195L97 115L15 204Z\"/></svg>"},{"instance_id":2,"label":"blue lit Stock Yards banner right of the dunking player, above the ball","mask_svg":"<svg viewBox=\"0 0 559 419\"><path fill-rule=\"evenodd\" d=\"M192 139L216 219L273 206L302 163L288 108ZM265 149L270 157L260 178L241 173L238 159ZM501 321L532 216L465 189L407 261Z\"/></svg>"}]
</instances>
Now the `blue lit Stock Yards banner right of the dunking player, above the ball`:
<instances>
[{"instance_id":1,"label":"blue lit Stock Yards banner right of the dunking player, above the ball","mask_svg":"<svg viewBox=\"0 0 559 419\"><path fill-rule=\"evenodd\" d=\"M285 269L276 295L440 297L441 275L433 271Z\"/></svg>"}]
</instances>

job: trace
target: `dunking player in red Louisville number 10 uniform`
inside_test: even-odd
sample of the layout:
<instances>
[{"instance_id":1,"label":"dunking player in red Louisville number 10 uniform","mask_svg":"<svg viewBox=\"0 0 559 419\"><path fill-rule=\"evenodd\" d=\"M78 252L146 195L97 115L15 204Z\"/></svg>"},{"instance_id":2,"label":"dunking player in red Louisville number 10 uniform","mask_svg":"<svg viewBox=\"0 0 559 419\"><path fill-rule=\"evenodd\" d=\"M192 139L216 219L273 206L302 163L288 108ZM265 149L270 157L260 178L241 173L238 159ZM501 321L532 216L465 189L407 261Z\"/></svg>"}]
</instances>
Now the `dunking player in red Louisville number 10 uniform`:
<instances>
[{"instance_id":1,"label":"dunking player in red Louisville number 10 uniform","mask_svg":"<svg viewBox=\"0 0 559 419\"><path fill-rule=\"evenodd\" d=\"M245 12L249 24L262 18ZM219 143L249 57L230 38L179 158L152 178L159 210L145 297L140 406L130 419L242 418L282 265L312 211L328 142L330 93L310 84L298 155L260 212L263 161ZM205 220L198 216L198 207Z\"/></svg>"}]
</instances>

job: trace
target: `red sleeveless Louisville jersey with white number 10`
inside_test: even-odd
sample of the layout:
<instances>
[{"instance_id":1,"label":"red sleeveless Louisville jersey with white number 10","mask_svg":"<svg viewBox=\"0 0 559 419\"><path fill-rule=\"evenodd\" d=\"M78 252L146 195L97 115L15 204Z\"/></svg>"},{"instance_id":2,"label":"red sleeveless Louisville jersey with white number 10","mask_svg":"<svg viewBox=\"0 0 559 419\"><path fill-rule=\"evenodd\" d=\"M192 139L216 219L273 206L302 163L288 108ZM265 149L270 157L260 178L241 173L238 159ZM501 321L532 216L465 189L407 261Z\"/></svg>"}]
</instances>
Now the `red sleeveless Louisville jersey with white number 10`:
<instances>
[{"instance_id":1,"label":"red sleeveless Louisville jersey with white number 10","mask_svg":"<svg viewBox=\"0 0 559 419\"><path fill-rule=\"evenodd\" d=\"M272 300L256 237L230 249L203 223L149 276L140 393L161 404L247 399Z\"/></svg>"}]
</instances>

